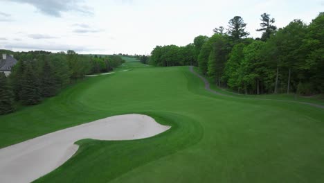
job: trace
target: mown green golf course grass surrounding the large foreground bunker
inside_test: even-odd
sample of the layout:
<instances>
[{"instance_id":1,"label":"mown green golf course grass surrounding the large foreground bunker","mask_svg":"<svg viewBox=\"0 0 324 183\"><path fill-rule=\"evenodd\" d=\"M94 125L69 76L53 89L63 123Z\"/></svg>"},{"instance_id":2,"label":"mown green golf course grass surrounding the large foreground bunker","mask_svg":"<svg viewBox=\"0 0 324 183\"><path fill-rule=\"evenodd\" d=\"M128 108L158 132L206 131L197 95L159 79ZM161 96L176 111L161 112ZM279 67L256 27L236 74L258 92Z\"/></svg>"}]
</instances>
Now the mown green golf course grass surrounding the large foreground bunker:
<instances>
[{"instance_id":1,"label":"mown green golf course grass surrounding the large foreground bunker","mask_svg":"<svg viewBox=\"0 0 324 183\"><path fill-rule=\"evenodd\" d=\"M36 182L323 182L323 109L217 96L188 67L123 68L131 70L0 116L0 146L139 113L172 128L149 139L78 141L68 162Z\"/></svg>"}]
</instances>

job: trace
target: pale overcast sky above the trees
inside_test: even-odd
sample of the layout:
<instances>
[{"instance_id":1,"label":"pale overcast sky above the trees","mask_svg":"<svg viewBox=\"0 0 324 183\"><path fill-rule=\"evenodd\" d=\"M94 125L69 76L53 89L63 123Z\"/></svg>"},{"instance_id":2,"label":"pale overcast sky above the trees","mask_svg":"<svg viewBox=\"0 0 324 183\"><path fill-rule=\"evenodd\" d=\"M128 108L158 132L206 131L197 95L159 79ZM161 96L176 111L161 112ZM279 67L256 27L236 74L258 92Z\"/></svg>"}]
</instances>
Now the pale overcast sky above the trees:
<instances>
[{"instance_id":1,"label":"pale overcast sky above the trees","mask_svg":"<svg viewBox=\"0 0 324 183\"><path fill-rule=\"evenodd\" d=\"M260 37L260 15L278 28L309 24L324 0L0 0L0 49L93 54L150 54L156 45L186 46L241 16Z\"/></svg>"}]
</instances>

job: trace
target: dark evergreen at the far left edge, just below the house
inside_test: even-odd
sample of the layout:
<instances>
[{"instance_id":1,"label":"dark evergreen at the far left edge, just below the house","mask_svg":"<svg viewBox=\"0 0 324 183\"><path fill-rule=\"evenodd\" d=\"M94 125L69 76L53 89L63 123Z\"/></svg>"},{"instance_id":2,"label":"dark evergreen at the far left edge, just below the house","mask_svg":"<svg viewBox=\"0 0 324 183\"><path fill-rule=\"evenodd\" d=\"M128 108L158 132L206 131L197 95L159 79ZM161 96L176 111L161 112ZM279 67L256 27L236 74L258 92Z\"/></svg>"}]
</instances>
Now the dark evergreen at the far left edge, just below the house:
<instances>
[{"instance_id":1,"label":"dark evergreen at the far left edge, just below the house","mask_svg":"<svg viewBox=\"0 0 324 183\"><path fill-rule=\"evenodd\" d=\"M8 83L8 78L6 78L3 72L0 72L0 115L8 114L15 110L13 101L14 96Z\"/></svg>"}]
</instances>

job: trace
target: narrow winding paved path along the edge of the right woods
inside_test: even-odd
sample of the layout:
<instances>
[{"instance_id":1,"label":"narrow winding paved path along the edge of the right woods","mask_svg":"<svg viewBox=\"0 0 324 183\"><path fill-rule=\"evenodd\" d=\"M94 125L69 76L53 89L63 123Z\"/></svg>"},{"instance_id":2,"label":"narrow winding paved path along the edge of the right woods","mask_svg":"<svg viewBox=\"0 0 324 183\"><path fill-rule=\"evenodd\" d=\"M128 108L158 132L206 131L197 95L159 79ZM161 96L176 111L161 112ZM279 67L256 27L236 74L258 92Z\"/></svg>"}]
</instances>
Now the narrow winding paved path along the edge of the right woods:
<instances>
[{"instance_id":1,"label":"narrow winding paved path along the edge of the right woods","mask_svg":"<svg viewBox=\"0 0 324 183\"><path fill-rule=\"evenodd\" d=\"M210 83L208 82L208 80L206 80L206 78L204 78L204 76L201 76L199 73L197 73L197 72L193 69L193 66L190 66L190 67L189 67L189 70L190 70L190 72L192 72L193 74L195 74L195 76L201 78L201 80L204 81L204 83L205 83L205 89L206 89L208 92L212 92L213 94L217 94L217 95L219 95L219 96L228 96L228 97L233 97L233 96L231 96L231 95L222 94L222 93L216 92L216 91L213 90L213 89L210 89ZM318 104L315 104L315 103L307 103L307 102L300 102L300 101L287 101L287 100L270 99L270 98L249 98L249 99L258 99L258 100L264 100L264 101L285 101L285 102L291 102L291 103L303 103L303 104L306 104L306 105L312 105L312 106L314 106L314 107L318 107L318 108L322 108L322 109L324 109L324 105L318 105Z\"/></svg>"}]
</instances>

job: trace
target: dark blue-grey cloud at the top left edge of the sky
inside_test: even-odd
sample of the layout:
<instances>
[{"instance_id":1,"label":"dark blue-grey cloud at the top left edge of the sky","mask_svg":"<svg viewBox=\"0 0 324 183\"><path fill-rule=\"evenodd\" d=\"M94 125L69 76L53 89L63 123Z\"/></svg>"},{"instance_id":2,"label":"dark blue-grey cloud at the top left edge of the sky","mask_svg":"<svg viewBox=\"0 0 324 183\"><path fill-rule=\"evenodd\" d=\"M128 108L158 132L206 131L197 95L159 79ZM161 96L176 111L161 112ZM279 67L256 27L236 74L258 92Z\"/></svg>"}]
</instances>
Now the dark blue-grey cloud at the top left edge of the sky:
<instances>
[{"instance_id":1,"label":"dark blue-grey cloud at the top left edge of the sky","mask_svg":"<svg viewBox=\"0 0 324 183\"><path fill-rule=\"evenodd\" d=\"M61 17L62 12L75 11L82 15L93 15L93 11L89 6L81 5L82 0L10 0L16 3L27 3L34 6L45 15L53 17Z\"/></svg>"}]
</instances>

